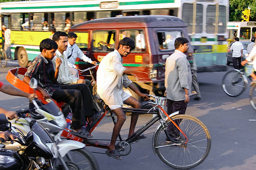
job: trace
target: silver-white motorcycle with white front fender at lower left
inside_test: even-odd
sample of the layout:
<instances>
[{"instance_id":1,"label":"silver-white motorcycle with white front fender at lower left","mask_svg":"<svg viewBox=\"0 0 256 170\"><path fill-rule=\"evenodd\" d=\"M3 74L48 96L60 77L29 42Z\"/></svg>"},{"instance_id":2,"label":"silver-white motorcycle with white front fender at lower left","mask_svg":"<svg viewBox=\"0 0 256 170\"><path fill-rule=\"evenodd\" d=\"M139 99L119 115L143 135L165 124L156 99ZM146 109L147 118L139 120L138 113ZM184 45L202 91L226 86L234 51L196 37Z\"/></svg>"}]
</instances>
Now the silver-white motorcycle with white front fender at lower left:
<instances>
[{"instance_id":1,"label":"silver-white motorcycle with white front fender at lower left","mask_svg":"<svg viewBox=\"0 0 256 170\"><path fill-rule=\"evenodd\" d=\"M32 78L30 82L31 88L36 90L37 81ZM52 159L52 169L60 170L98 170L96 159L85 149L85 145L75 140L61 140L61 134L67 126L59 107L52 100L46 100L48 103L43 104L35 98L32 100L35 110L23 110L18 112L18 120L11 120L13 126L19 128L23 133L28 132L28 125L31 121L40 123L51 135L58 147L59 157ZM27 117L29 112L29 117ZM8 147L11 147L10 144ZM49 169L50 170L50 169Z\"/></svg>"}]
</instances>

